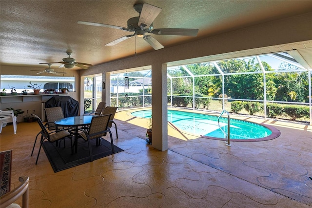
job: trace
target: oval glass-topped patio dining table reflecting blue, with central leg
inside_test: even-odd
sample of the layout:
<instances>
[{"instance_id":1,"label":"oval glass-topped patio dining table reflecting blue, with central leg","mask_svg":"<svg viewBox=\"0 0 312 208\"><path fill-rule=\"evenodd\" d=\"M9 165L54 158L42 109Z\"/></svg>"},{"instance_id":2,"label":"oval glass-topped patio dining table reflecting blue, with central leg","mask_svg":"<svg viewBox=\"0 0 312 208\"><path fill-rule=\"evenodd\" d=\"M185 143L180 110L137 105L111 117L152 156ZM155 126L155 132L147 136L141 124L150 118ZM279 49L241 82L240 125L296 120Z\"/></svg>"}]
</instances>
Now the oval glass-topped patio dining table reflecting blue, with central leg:
<instances>
[{"instance_id":1,"label":"oval glass-topped patio dining table reflecting blue, with central leg","mask_svg":"<svg viewBox=\"0 0 312 208\"><path fill-rule=\"evenodd\" d=\"M93 116L73 116L73 117L63 118L54 122L54 124L57 126L74 127L75 153L77 153L77 146L78 146L78 127L90 125L92 117Z\"/></svg>"}]
</instances>

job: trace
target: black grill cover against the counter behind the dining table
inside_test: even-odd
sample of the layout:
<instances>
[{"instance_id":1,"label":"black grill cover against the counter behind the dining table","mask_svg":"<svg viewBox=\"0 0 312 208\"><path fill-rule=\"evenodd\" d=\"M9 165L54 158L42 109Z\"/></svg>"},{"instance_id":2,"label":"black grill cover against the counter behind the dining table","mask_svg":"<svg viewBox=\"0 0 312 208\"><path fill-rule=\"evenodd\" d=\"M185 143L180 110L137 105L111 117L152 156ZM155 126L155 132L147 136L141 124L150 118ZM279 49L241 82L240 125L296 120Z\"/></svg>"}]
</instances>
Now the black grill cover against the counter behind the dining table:
<instances>
[{"instance_id":1,"label":"black grill cover against the counter behind the dining table","mask_svg":"<svg viewBox=\"0 0 312 208\"><path fill-rule=\"evenodd\" d=\"M44 104L45 108L58 107L63 110L64 117L78 116L79 103L70 96L53 96Z\"/></svg>"}]
</instances>

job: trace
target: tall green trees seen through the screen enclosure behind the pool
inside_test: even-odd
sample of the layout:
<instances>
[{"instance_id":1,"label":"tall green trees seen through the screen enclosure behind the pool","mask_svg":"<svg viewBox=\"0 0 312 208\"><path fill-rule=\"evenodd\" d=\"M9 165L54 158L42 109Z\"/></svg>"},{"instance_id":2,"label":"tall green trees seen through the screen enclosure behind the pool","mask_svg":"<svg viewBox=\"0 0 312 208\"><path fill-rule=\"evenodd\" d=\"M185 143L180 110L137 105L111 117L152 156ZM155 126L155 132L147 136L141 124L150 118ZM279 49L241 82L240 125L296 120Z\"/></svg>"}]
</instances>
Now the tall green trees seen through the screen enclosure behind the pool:
<instances>
[{"instance_id":1,"label":"tall green trees seen through the screen enclosure behind the pool","mask_svg":"<svg viewBox=\"0 0 312 208\"><path fill-rule=\"evenodd\" d=\"M261 62L266 72L273 71L267 62ZM264 74L255 59L233 59L218 62L224 75L225 94L230 98L264 100ZM222 94L222 76L214 65L197 63L187 65L190 72L195 75L195 93L217 98ZM282 63L282 70L295 70L296 66ZM261 72L261 73L256 73ZM173 93L183 94L193 92L193 78L183 69L170 72ZM244 74L232 74L244 73ZM208 76L196 76L208 75ZM214 76L212 76L214 75ZM183 77L187 76L187 77ZM179 78L175 78L179 77ZM308 73L307 72L281 72L265 73L266 99L271 101L309 102ZM170 82L168 82L168 92Z\"/></svg>"}]
</instances>

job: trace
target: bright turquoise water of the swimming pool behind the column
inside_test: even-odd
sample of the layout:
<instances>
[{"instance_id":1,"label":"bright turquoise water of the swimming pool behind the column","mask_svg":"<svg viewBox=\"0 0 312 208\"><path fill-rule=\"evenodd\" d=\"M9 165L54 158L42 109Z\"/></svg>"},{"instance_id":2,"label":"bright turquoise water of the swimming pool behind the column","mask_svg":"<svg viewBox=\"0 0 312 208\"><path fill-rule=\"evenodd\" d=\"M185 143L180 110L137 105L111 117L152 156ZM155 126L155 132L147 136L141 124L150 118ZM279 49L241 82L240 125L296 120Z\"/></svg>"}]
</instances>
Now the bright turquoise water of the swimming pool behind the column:
<instances>
[{"instance_id":1,"label":"bright turquoise water of the swimming pool behind the column","mask_svg":"<svg viewBox=\"0 0 312 208\"><path fill-rule=\"evenodd\" d=\"M132 116L150 118L152 110L140 110L133 112ZM168 122L177 128L202 136L224 138L224 134L217 124L217 116L168 110ZM220 118L220 126L227 133L228 119ZM230 119L230 139L259 139L272 134L272 131L259 124L237 119Z\"/></svg>"}]
</instances>

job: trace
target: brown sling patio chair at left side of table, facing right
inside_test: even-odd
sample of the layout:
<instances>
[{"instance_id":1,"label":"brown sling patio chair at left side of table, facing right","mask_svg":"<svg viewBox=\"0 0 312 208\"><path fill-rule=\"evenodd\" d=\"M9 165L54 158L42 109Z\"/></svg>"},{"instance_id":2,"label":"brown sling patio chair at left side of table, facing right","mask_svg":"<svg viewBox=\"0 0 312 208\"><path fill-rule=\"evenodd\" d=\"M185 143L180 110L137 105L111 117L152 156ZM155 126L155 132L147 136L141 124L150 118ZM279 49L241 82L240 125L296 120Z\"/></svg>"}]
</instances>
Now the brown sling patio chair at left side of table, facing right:
<instances>
[{"instance_id":1,"label":"brown sling patio chair at left side of table, facing right","mask_svg":"<svg viewBox=\"0 0 312 208\"><path fill-rule=\"evenodd\" d=\"M39 151L38 151L38 156L37 156L37 160L36 160L36 165L38 163L38 158L39 158L39 154L40 154L40 150L41 150L41 146L42 146L42 143L47 140L48 142L50 143L53 143L53 142L58 142L59 140L62 140L62 139L65 139L66 137L68 137L70 139L70 145L71 145L71 149L72 149L72 154L73 154L73 143L72 143L72 135L70 134L70 132L68 131L68 129L60 129L60 130L57 130L57 131L52 131L52 132L48 132L47 129L45 128L45 126L43 125L41 119L35 115L35 114L31 114L33 117L35 117L35 119L37 120L40 128L41 128L41 131L39 132L39 134L41 134L41 140L40 140L40 147L39 147ZM33 152L34 152L34 148L35 148L35 145L36 145L36 141L37 141L37 137L36 137L36 140L35 140L35 144L34 144L34 147L33 147L33 151L31 153L31 156L33 155ZM65 147L65 142L64 142L64 147Z\"/></svg>"}]
</instances>

